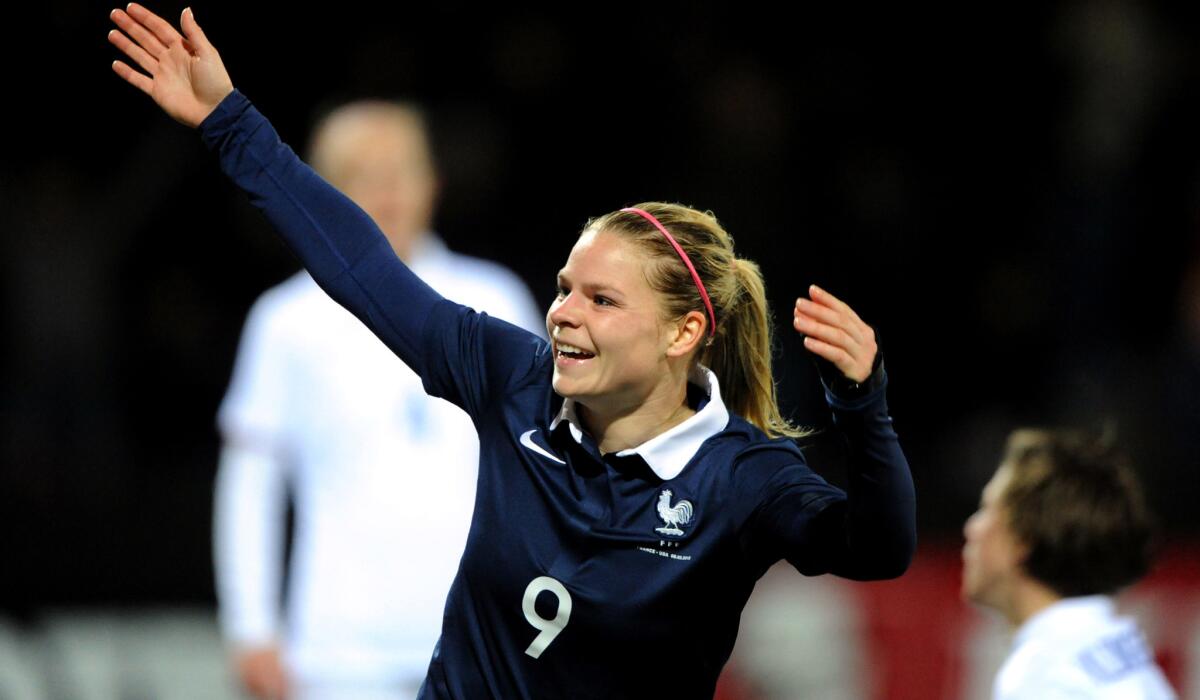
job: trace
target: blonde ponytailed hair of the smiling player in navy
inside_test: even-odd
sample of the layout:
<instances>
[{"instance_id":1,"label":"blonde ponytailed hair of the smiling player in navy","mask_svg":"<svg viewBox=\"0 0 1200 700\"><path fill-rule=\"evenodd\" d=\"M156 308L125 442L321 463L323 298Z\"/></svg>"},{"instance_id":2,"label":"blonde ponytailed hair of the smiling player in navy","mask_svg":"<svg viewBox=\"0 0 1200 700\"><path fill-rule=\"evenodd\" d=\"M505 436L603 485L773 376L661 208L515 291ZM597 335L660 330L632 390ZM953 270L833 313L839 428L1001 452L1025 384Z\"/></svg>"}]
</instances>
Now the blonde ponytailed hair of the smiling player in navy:
<instances>
[{"instance_id":1,"label":"blonde ponytailed hair of the smiling player in navy","mask_svg":"<svg viewBox=\"0 0 1200 700\"><path fill-rule=\"evenodd\" d=\"M701 345L695 359L716 375L726 406L769 437L808 435L780 414L775 400L770 309L758 265L733 253L733 237L710 211L662 202L635 208L652 214L671 232L704 283L716 331L710 342ZM583 229L623 235L647 253L647 281L662 297L667 318L700 311L706 323L712 323L691 273L652 222L634 211L613 211L589 220Z\"/></svg>"}]
</instances>

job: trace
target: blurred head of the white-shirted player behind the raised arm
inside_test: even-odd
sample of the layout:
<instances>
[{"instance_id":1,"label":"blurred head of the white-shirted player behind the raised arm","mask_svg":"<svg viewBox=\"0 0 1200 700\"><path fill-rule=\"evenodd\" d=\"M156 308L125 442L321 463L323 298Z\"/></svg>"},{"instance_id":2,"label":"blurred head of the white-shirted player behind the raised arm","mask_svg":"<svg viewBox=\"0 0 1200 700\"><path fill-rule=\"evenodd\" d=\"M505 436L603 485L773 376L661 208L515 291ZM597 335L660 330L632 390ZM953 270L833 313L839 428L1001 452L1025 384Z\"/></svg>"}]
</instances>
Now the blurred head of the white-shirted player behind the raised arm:
<instances>
[{"instance_id":1,"label":"blurred head of the white-shirted player behind the raised arm","mask_svg":"<svg viewBox=\"0 0 1200 700\"><path fill-rule=\"evenodd\" d=\"M356 102L318 127L310 158L408 259L430 229L437 173L421 118L388 102Z\"/></svg>"}]
</instances>

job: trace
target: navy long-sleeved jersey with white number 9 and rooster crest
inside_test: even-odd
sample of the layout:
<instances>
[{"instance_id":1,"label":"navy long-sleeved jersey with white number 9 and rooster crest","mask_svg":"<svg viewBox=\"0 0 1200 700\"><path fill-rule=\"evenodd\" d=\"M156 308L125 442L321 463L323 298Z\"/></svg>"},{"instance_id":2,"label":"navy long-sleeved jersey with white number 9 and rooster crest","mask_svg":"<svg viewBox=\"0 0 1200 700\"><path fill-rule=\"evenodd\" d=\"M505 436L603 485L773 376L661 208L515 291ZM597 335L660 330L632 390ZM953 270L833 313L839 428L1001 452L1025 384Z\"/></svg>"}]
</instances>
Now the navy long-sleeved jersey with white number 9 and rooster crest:
<instances>
[{"instance_id":1,"label":"navy long-sleeved jersey with white number 9 and rooster crest","mask_svg":"<svg viewBox=\"0 0 1200 700\"><path fill-rule=\"evenodd\" d=\"M240 92L200 132L313 279L479 431L474 517L424 698L712 696L772 563L854 579L907 567L912 480L882 387L827 394L848 496L790 441L718 413L715 383L689 387L720 423L670 478L649 451L601 455L562 418L550 346L421 282Z\"/></svg>"}]
</instances>

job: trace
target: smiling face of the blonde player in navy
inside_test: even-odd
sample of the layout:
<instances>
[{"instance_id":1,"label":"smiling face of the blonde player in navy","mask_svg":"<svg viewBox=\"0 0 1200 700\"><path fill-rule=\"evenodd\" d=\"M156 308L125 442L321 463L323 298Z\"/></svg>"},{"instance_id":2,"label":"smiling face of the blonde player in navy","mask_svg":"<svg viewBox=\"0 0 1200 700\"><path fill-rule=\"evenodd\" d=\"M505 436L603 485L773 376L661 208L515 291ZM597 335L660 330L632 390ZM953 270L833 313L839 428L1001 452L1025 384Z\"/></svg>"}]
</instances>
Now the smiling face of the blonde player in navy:
<instances>
[{"instance_id":1,"label":"smiling face of the blonde player in navy","mask_svg":"<svg viewBox=\"0 0 1200 700\"><path fill-rule=\"evenodd\" d=\"M546 313L554 391L590 411L617 414L673 389L668 357L677 331L662 318L643 265L634 244L586 231L558 274Z\"/></svg>"}]
</instances>

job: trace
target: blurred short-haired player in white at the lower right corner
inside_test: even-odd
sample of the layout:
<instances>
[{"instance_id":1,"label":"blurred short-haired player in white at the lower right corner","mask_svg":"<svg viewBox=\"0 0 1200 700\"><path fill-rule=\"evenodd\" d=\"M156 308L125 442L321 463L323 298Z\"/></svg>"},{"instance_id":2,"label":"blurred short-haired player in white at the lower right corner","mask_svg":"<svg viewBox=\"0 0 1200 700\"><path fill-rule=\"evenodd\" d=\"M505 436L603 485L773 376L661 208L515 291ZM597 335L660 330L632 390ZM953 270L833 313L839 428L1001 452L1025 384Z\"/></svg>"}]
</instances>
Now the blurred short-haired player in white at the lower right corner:
<instances>
[{"instance_id":1,"label":"blurred short-haired player in white at the lower right corner","mask_svg":"<svg viewBox=\"0 0 1200 700\"><path fill-rule=\"evenodd\" d=\"M1150 568L1141 489L1105 444L1018 430L964 528L962 594L1016 633L996 700L1175 698L1112 596Z\"/></svg>"}]
</instances>

